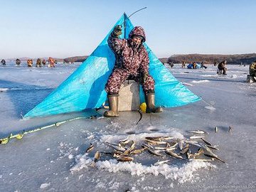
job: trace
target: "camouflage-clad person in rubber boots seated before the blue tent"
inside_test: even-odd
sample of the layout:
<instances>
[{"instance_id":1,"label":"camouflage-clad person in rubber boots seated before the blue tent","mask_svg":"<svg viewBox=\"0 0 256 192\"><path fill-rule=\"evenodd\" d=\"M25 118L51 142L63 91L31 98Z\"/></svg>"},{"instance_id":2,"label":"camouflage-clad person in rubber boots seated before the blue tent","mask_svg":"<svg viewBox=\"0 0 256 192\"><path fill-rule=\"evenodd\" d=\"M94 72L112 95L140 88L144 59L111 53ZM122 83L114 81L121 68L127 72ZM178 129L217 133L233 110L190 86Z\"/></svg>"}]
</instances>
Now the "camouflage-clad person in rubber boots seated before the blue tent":
<instances>
[{"instance_id":1,"label":"camouflage-clad person in rubber boots seated before the blue tent","mask_svg":"<svg viewBox=\"0 0 256 192\"><path fill-rule=\"evenodd\" d=\"M107 80L105 90L110 105L110 110L104 113L105 117L118 117L118 96L122 83L129 79L142 84L146 112L162 112L161 107L156 107L154 79L149 75L149 55L143 42L146 41L144 29L136 26L129 33L128 39L120 39L122 26L115 26L107 42L114 52L115 64L110 78Z\"/></svg>"}]
</instances>

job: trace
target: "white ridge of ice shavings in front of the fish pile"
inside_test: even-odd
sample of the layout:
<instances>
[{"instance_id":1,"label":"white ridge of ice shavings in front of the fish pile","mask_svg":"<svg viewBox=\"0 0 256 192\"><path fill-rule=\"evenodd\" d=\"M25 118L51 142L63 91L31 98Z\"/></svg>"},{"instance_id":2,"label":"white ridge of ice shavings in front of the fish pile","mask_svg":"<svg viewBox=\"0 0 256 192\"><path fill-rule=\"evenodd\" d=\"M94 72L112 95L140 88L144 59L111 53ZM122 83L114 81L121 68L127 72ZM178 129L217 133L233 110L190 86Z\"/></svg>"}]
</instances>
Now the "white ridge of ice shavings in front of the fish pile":
<instances>
[{"instance_id":1,"label":"white ridge of ice shavings in front of the fish pile","mask_svg":"<svg viewBox=\"0 0 256 192\"><path fill-rule=\"evenodd\" d=\"M73 166L70 171L80 171L81 169L87 169L92 163L86 154L76 157L77 164ZM166 179L176 180L178 183L185 183L186 181L192 181L195 171L198 169L209 169L215 168L213 164L204 161L189 161L186 164L183 164L180 168L174 165L161 164L159 166L149 165L144 166L141 163L136 162L118 162L115 159L97 161L96 168L100 170L109 171L111 173L117 172L128 172L132 176L144 176L146 174L151 174L154 176L162 175Z\"/></svg>"}]
</instances>

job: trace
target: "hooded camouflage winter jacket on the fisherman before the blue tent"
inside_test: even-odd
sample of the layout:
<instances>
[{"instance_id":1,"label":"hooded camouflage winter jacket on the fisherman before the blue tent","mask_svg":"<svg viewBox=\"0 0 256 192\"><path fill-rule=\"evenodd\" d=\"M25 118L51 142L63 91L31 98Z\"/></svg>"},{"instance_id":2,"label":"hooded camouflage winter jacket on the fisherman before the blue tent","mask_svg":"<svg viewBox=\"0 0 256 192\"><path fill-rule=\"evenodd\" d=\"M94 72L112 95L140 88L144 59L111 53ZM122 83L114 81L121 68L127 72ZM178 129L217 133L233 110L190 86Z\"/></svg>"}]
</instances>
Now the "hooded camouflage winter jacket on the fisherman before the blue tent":
<instances>
[{"instance_id":1,"label":"hooded camouflage winter jacket on the fisherman before the blue tent","mask_svg":"<svg viewBox=\"0 0 256 192\"><path fill-rule=\"evenodd\" d=\"M142 36L146 40L144 29L136 26L129 33L128 39L120 39L112 32L107 40L114 52L116 61L114 68L122 68L127 73L137 76L139 73L149 73L149 55L143 44L139 47L132 42L132 36Z\"/></svg>"}]
</instances>

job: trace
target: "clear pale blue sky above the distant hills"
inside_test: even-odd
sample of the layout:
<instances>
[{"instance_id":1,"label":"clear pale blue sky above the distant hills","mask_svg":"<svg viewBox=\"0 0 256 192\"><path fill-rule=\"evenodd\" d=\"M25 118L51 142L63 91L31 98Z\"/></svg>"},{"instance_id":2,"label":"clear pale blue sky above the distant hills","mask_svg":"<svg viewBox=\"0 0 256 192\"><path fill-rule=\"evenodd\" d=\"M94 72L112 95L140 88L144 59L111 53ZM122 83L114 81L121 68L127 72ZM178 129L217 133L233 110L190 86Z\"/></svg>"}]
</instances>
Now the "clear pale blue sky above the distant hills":
<instances>
[{"instance_id":1,"label":"clear pale blue sky above the distant hills","mask_svg":"<svg viewBox=\"0 0 256 192\"><path fill-rule=\"evenodd\" d=\"M255 0L0 0L0 59L90 55L125 12L159 57L256 53Z\"/></svg>"}]
</instances>

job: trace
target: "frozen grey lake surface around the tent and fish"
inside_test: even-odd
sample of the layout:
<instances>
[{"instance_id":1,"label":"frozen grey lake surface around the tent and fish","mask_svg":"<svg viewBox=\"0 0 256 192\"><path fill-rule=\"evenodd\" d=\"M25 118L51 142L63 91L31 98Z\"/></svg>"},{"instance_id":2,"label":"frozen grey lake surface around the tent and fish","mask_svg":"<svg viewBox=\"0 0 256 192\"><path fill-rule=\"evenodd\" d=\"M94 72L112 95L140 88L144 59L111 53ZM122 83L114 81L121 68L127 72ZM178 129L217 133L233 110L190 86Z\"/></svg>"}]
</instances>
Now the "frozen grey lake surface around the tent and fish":
<instances>
[{"instance_id":1,"label":"frozen grey lake surface around the tent and fish","mask_svg":"<svg viewBox=\"0 0 256 192\"><path fill-rule=\"evenodd\" d=\"M248 66L228 65L228 75L220 76L213 65L195 70L174 65L169 68L171 73L203 100L164 109L161 114L143 114L139 124L138 112L103 118L100 115L104 110L22 119L21 115L41 102L79 65L0 66L1 138L11 132L97 114L1 144L0 191L255 191L256 84L246 83ZM233 129L228 132L230 126ZM113 151L107 142L117 143L129 136L139 149L144 137L185 139L191 136L186 131L193 129L208 132L205 138L218 146L220 150L214 152L226 164L174 159L166 154L159 157L144 151L133 156L132 162L119 162L101 154L92 166L96 151ZM90 143L94 149L85 153ZM166 162L156 164L158 161Z\"/></svg>"}]
</instances>

